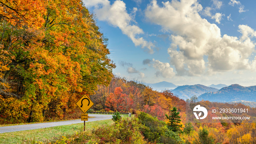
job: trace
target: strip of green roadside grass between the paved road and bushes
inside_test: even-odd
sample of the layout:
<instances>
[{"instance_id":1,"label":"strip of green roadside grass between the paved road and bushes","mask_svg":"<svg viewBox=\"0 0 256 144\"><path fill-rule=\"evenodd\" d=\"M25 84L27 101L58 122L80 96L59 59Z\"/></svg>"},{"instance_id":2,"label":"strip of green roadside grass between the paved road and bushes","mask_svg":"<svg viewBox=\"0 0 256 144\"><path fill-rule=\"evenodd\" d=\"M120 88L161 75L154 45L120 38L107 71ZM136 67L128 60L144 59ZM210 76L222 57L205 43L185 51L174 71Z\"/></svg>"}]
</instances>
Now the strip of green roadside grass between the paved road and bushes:
<instances>
[{"instance_id":1,"label":"strip of green roadside grass between the paved road and bushes","mask_svg":"<svg viewBox=\"0 0 256 144\"><path fill-rule=\"evenodd\" d=\"M124 115L128 117L128 115ZM98 128L102 125L112 125L112 120L102 120L86 122L86 131L91 131L94 128ZM31 144L33 141L41 141L43 143L53 142L59 140L61 136L72 136L76 133L83 132L83 123L55 126L44 129L24 130L19 132L1 133L0 143L1 144Z\"/></svg>"}]
</instances>

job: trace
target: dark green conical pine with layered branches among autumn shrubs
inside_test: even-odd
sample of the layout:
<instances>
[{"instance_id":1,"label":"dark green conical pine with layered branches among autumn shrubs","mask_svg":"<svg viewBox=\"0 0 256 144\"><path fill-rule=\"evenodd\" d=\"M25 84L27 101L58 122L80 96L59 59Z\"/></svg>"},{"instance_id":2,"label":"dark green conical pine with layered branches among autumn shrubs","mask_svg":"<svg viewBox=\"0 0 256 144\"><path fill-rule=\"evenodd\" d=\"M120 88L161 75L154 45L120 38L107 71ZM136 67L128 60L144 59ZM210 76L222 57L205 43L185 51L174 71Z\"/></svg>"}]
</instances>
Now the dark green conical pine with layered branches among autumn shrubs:
<instances>
[{"instance_id":1,"label":"dark green conical pine with layered branches among autumn shrubs","mask_svg":"<svg viewBox=\"0 0 256 144\"><path fill-rule=\"evenodd\" d=\"M182 127L182 125L180 125L181 120L180 120L179 114L180 112L177 112L176 107L173 107L173 109L171 110L170 116L165 114L165 116L169 120L169 122L167 123L168 129L172 130L173 132L180 131L180 128Z\"/></svg>"}]
</instances>

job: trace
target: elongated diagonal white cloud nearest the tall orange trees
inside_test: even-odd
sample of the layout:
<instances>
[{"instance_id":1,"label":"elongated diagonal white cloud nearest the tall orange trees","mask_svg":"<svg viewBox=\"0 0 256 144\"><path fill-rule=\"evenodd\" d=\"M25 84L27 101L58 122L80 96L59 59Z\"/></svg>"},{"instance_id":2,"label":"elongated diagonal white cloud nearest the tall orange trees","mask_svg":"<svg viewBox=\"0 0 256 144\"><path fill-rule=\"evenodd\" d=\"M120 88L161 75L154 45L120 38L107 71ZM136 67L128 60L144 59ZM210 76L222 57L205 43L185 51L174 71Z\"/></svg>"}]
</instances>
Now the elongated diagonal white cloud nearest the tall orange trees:
<instances>
[{"instance_id":1,"label":"elongated diagonal white cloud nearest the tall orange trees","mask_svg":"<svg viewBox=\"0 0 256 144\"><path fill-rule=\"evenodd\" d=\"M150 54L154 53L153 43L146 41L143 37L138 37L139 34L144 33L143 30L131 24L131 22L135 22L133 15L138 10L137 8L133 8L132 14L128 14L125 3L121 0L114 1L112 5L109 0L83 0L83 2L86 7L95 7L94 12L99 20L121 29L135 46L146 48L145 50Z\"/></svg>"}]
</instances>

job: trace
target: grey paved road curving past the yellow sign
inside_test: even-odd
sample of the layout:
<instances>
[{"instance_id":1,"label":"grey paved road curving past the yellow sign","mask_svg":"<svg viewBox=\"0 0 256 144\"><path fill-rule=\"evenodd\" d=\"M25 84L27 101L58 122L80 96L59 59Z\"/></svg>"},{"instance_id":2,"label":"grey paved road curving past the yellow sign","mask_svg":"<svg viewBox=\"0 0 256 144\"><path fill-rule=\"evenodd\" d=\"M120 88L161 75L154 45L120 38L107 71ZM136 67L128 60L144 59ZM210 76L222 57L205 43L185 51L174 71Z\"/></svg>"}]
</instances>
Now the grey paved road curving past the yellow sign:
<instances>
[{"instance_id":1,"label":"grey paved road curving past the yellow sign","mask_svg":"<svg viewBox=\"0 0 256 144\"><path fill-rule=\"evenodd\" d=\"M88 121L100 121L100 120L109 120L112 118L112 115L109 114L88 114L89 118ZM40 124L27 124L27 125L14 125L14 126L0 126L0 133L8 133L8 132L16 132L22 130L31 130L31 129L41 129L41 128L49 128L53 126L60 126L60 125L71 125L71 124L78 124L83 123L84 121L79 120L69 120L69 121L59 121L59 122L45 122Z\"/></svg>"}]
</instances>

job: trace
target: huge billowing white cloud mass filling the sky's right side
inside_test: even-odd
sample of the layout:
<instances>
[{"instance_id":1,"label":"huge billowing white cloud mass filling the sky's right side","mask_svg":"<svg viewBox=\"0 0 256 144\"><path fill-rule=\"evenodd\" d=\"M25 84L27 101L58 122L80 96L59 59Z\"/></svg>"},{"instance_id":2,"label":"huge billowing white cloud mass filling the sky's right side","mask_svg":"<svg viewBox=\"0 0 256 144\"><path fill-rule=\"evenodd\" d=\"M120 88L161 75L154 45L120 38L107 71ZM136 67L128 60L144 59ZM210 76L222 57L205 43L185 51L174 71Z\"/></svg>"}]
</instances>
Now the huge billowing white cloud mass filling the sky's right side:
<instances>
[{"instance_id":1,"label":"huge billowing white cloud mass filling the sky's right side","mask_svg":"<svg viewBox=\"0 0 256 144\"><path fill-rule=\"evenodd\" d=\"M216 24L199 15L203 7L196 0L173 0L162 4L163 6L159 6L157 0L151 1L145 10L145 16L150 22L162 26L163 30L172 34L168 54L177 75L199 76L204 73L253 68L254 61L249 61L249 56L255 51L255 43L251 38L256 35L251 27L238 26L242 35L240 38L221 36L221 30ZM210 8L206 11L211 15ZM215 14L216 22L219 23L221 16L222 14ZM160 72L162 71L157 75L163 75Z\"/></svg>"}]
</instances>

